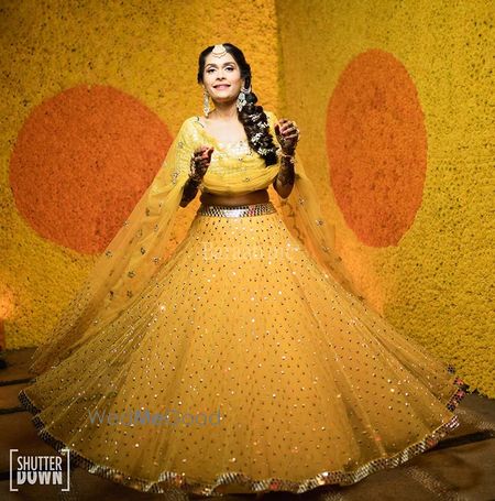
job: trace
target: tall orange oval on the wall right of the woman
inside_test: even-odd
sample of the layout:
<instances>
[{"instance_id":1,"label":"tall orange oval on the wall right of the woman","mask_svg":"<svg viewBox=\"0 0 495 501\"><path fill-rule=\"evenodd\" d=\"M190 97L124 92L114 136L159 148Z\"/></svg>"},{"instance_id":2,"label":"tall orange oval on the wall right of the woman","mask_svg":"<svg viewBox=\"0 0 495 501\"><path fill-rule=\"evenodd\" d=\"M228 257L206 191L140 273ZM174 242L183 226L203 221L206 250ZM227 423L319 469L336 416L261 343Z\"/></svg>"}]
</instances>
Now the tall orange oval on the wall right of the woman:
<instances>
[{"instance_id":1,"label":"tall orange oval on the wall right of the woman","mask_svg":"<svg viewBox=\"0 0 495 501\"><path fill-rule=\"evenodd\" d=\"M343 217L371 247L395 246L421 205L425 118L413 79L371 50L342 72L327 113L330 181Z\"/></svg>"}]
</instances>

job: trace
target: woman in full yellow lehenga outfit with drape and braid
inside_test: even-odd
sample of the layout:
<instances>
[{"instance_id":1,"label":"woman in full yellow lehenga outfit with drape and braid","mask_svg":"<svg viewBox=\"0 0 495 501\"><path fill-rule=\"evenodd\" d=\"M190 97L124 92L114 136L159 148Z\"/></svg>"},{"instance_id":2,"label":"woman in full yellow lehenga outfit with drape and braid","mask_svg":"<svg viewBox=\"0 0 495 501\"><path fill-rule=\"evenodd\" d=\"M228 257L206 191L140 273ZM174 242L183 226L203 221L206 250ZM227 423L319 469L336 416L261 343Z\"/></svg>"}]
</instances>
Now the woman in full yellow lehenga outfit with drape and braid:
<instances>
[{"instance_id":1,"label":"woman in full yellow lehenga outfit with drape and braid","mask_svg":"<svg viewBox=\"0 0 495 501\"><path fill-rule=\"evenodd\" d=\"M202 495L349 484L432 447L463 383L360 293L243 53L207 47L198 83L205 117L34 353L19 399L40 436L129 488Z\"/></svg>"}]
</instances>

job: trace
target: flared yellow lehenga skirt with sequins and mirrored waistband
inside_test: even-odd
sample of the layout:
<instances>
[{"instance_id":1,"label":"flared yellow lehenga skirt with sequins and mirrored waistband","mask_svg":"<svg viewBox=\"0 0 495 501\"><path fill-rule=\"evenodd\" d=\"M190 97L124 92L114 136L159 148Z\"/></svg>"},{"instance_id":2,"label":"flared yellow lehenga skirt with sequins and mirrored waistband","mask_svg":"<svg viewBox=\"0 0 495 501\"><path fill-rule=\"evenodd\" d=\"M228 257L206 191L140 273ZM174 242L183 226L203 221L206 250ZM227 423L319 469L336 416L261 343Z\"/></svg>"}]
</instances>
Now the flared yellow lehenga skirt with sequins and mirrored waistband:
<instances>
[{"instance_id":1,"label":"flared yellow lehenga skirt with sequins and mirrored waistband","mask_svg":"<svg viewBox=\"0 0 495 501\"><path fill-rule=\"evenodd\" d=\"M19 397L90 472L213 495L395 467L458 425L462 386L265 203L200 206L143 294Z\"/></svg>"}]
</instances>

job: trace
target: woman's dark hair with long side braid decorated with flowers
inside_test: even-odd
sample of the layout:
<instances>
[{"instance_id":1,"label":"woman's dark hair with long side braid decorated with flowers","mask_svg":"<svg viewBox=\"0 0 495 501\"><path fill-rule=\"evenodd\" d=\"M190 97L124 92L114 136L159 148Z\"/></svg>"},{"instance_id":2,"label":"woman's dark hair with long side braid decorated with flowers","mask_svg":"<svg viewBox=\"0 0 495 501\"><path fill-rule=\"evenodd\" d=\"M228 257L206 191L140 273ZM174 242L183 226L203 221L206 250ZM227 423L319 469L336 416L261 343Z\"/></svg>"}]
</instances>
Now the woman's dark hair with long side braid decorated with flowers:
<instances>
[{"instance_id":1,"label":"woman's dark hair with long side braid decorated with flowers","mask_svg":"<svg viewBox=\"0 0 495 501\"><path fill-rule=\"evenodd\" d=\"M227 52L235 59L240 69L241 78L244 79L244 87L251 87L251 67L245 61L244 54L240 48L230 43L224 43ZM205 72L205 62L208 54L215 48L210 45L199 54L198 61L198 84L202 84L202 74ZM273 137L270 133L268 119L263 111L263 107L256 106L257 97L251 91L245 95L246 105L238 111L239 120L244 126L248 143L250 146L262 156L266 165L277 163L276 145Z\"/></svg>"}]
</instances>

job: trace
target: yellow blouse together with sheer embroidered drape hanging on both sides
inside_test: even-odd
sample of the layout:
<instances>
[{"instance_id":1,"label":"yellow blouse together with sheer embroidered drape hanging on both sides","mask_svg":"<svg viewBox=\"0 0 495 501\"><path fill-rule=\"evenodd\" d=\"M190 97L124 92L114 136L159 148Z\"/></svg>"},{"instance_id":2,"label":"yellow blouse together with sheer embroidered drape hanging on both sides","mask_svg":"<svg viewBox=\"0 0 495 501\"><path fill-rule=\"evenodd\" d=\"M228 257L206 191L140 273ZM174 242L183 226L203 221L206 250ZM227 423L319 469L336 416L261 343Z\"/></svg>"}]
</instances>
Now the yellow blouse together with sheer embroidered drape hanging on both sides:
<instances>
[{"instance_id":1,"label":"yellow blouse together with sheer embroidered drape hanging on both sides","mask_svg":"<svg viewBox=\"0 0 495 501\"><path fill-rule=\"evenodd\" d=\"M266 115L276 141L277 118L270 111ZM63 309L46 342L35 351L33 373L56 366L109 325L166 261L190 157L201 144L213 145L215 152L200 190L232 195L266 188L279 170L279 161L267 167L246 142L220 143L205 131L198 117L185 120L152 184ZM316 190L297 153L295 186L286 199L279 199L279 206L287 228L310 255L346 291L365 302L336 251L334 226L323 219Z\"/></svg>"}]
</instances>

